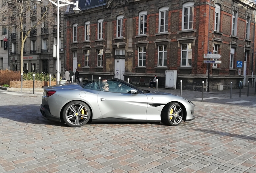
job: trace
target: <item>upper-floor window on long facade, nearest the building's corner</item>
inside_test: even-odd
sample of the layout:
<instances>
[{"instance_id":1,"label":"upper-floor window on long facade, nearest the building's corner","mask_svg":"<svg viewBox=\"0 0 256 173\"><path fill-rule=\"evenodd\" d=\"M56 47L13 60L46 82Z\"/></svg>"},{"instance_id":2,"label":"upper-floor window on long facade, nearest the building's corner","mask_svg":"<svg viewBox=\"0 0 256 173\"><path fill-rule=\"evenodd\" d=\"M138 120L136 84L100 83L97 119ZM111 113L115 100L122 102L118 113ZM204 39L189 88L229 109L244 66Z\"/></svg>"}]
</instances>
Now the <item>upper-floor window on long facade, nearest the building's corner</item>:
<instances>
[{"instance_id":1,"label":"upper-floor window on long facade, nearest the building's corner","mask_svg":"<svg viewBox=\"0 0 256 173\"><path fill-rule=\"evenodd\" d=\"M182 30L193 29L194 2L188 2L182 9Z\"/></svg>"}]
</instances>

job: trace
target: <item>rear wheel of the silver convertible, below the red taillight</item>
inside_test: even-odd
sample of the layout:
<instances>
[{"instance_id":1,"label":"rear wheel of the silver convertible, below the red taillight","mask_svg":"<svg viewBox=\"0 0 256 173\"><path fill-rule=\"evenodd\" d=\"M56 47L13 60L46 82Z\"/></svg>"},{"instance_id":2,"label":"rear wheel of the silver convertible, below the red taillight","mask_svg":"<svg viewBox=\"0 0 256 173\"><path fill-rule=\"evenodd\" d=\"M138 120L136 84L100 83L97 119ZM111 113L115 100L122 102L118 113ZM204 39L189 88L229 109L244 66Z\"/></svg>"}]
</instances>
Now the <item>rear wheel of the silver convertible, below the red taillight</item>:
<instances>
[{"instance_id":1,"label":"rear wheel of the silver convertible, below the red taillight","mask_svg":"<svg viewBox=\"0 0 256 173\"><path fill-rule=\"evenodd\" d=\"M72 101L63 110L63 119L70 127L81 127L88 123L90 117L90 108L81 101Z\"/></svg>"}]
</instances>

